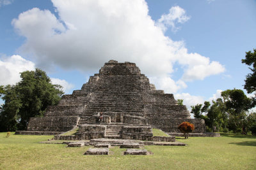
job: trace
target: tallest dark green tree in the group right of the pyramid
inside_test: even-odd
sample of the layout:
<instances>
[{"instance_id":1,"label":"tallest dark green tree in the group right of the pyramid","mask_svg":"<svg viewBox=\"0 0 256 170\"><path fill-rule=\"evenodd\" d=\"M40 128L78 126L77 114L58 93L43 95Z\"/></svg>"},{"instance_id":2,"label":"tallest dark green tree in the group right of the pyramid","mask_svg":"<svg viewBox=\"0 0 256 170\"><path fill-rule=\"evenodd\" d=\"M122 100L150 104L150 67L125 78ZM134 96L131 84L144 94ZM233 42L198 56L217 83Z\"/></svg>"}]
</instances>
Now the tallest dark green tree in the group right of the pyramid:
<instances>
[{"instance_id":1,"label":"tallest dark green tree in the group right of the pyramid","mask_svg":"<svg viewBox=\"0 0 256 170\"><path fill-rule=\"evenodd\" d=\"M228 114L228 129L232 129L234 132L239 129L246 131L244 129L246 111L253 107L252 99L240 89L225 90L221 92L221 97L223 97Z\"/></svg>"}]
</instances>

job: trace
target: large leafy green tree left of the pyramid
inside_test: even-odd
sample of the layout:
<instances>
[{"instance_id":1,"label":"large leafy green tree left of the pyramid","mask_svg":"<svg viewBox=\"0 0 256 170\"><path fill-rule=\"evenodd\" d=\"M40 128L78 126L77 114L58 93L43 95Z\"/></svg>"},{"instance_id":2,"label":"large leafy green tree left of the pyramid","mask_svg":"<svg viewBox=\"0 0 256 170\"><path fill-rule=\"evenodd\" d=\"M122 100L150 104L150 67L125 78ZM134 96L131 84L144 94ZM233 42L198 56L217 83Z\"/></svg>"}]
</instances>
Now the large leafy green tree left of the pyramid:
<instances>
[{"instance_id":1,"label":"large leafy green tree left of the pyramid","mask_svg":"<svg viewBox=\"0 0 256 170\"><path fill-rule=\"evenodd\" d=\"M26 129L30 117L42 117L49 105L56 105L63 91L52 85L51 79L41 69L20 73L16 85L4 87L3 108L0 113L0 131Z\"/></svg>"}]
</instances>

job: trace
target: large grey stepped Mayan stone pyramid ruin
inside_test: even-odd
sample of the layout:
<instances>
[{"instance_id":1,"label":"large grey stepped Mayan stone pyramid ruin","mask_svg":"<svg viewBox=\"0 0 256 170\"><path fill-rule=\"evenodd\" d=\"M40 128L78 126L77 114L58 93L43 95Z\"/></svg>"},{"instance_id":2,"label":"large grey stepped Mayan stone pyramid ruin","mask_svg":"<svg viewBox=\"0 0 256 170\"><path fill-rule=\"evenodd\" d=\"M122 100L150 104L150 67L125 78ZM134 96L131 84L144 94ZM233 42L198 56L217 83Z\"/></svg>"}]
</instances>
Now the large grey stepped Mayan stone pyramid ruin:
<instances>
[{"instance_id":1,"label":"large grey stepped Mayan stone pyramid ruin","mask_svg":"<svg viewBox=\"0 0 256 170\"><path fill-rule=\"evenodd\" d=\"M204 120L191 118L173 94L156 90L135 63L109 60L81 90L63 95L58 106L49 106L44 117L30 118L27 131L16 134L57 135L79 127L77 139L147 140L152 128L175 133L185 121L195 124L194 133L205 132Z\"/></svg>"}]
</instances>

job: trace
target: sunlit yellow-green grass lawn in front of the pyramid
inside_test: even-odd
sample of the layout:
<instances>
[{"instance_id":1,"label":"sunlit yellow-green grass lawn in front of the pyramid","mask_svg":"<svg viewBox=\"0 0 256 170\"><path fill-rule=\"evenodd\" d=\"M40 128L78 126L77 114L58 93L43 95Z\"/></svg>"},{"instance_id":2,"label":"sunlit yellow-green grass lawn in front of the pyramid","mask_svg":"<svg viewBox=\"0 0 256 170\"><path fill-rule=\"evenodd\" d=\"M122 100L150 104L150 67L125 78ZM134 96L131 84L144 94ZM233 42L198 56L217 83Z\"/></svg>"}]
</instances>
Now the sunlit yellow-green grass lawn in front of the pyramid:
<instances>
[{"instance_id":1,"label":"sunlit yellow-green grass lawn in front of the pyramid","mask_svg":"<svg viewBox=\"0 0 256 170\"><path fill-rule=\"evenodd\" d=\"M90 146L43 144L53 136L0 133L0 169L256 169L256 138L221 134L221 138L178 138L187 146L145 146L152 155L83 155Z\"/></svg>"}]
</instances>

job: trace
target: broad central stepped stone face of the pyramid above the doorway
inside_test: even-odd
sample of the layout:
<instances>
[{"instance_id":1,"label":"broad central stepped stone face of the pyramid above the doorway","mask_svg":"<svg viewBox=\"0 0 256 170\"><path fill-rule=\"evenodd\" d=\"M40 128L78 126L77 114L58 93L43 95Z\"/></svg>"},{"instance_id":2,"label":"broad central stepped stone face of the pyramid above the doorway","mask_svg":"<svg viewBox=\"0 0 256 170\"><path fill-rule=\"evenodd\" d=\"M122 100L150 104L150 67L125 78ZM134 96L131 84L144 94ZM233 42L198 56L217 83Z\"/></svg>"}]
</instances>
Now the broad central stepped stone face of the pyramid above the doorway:
<instances>
[{"instance_id":1,"label":"broad central stepped stone face of the pyramid above the doorway","mask_svg":"<svg viewBox=\"0 0 256 170\"><path fill-rule=\"evenodd\" d=\"M86 124L93 113L101 111L142 115L142 101L139 76L100 76L79 125Z\"/></svg>"}]
</instances>

